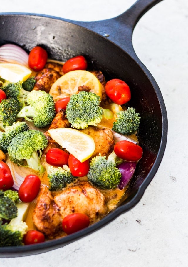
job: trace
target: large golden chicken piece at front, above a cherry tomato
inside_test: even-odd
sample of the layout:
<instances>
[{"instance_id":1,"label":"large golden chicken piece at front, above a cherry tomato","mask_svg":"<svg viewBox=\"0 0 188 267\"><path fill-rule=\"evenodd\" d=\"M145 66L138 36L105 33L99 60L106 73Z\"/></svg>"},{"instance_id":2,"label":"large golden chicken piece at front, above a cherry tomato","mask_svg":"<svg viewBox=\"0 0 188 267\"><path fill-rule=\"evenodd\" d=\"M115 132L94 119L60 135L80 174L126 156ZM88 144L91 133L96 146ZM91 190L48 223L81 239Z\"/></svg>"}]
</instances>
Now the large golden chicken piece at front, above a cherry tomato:
<instances>
[{"instance_id":1,"label":"large golden chicken piece at front, above a cherry tomato","mask_svg":"<svg viewBox=\"0 0 188 267\"><path fill-rule=\"evenodd\" d=\"M98 221L108 212L105 197L88 182L78 181L54 196L62 219L68 214L80 212L88 215L90 223Z\"/></svg>"}]
</instances>

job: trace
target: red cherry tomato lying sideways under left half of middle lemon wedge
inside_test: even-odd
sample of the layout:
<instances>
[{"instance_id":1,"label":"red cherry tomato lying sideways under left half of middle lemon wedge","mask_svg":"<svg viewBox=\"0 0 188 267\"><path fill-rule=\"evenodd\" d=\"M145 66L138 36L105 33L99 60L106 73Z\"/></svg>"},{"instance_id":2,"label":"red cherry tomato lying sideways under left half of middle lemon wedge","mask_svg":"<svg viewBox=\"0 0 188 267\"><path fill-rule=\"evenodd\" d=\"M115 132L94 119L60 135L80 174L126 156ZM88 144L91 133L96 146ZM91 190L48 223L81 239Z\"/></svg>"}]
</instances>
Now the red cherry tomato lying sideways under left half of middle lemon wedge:
<instances>
[{"instance_id":1,"label":"red cherry tomato lying sideways under left half of middle lemon wedge","mask_svg":"<svg viewBox=\"0 0 188 267\"><path fill-rule=\"evenodd\" d=\"M68 165L69 154L60 148L51 148L46 153L46 162L54 166Z\"/></svg>"}]
</instances>

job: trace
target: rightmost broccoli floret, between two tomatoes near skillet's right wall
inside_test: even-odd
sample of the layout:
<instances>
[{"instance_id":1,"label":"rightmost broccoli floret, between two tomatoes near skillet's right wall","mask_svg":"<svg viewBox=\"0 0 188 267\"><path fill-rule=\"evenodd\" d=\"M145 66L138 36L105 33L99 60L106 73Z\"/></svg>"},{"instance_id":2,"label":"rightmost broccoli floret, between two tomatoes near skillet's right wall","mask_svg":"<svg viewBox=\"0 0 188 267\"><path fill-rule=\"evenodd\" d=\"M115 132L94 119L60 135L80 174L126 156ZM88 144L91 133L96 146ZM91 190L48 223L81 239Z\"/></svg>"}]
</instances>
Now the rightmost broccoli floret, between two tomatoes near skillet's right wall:
<instances>
[{"instance_id":1,"label":"rightmost broccoli floret, between two tomatoes near skillet's right wall","mask_svg":"<svg viewBox=\"0 0 188 267\"><path fill-rule=\"evenodd\" d=\"M128 107L125 111L117 112L117 119L113 122L112 130L123 135L135 133L140 124L139 115L132 107Z\"/></svg>"}]
</instances>

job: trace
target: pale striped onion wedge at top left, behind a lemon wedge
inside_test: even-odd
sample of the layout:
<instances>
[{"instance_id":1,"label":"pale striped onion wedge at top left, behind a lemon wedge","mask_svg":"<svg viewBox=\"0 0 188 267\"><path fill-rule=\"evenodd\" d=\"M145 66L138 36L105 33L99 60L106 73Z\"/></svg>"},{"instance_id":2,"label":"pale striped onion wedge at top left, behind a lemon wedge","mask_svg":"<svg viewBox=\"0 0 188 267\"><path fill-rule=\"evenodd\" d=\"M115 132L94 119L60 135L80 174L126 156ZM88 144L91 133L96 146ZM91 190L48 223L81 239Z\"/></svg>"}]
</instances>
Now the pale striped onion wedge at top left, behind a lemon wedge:
<instances>
[{"instance_id":1,"label":"pale striped onion wedge at top left, behind a lemon wedge","mask_svg":"<svg viewBox=\"0 0 188 267\"><path fill-rule=\"evenodd\" d=\"M28 53L18 45L5 44L0 47L1 63L20 63L28 68L28 58Z\"/></svg>"}]
</instances>

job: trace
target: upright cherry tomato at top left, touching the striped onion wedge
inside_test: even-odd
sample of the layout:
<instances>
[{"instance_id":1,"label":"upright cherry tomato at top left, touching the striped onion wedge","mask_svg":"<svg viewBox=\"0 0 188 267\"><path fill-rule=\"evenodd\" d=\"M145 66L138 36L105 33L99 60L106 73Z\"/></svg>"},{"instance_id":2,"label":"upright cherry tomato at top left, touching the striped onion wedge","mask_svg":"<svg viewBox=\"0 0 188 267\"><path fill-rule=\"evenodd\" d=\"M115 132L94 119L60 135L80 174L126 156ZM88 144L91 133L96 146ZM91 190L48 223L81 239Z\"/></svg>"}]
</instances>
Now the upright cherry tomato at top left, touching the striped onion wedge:
<instances>
[{"instance_id":1,"label":"upright cherry tomato at top left, touching the striped onion wedge","mask_svg":"<svg viewBox=\"0 0 188 267\"><path fill-rule=\"evenodd\" d=\"M40 46L34 47L29 53L29 68L34 71L41 71L46 65L48 54L45 49Z\"/></svg>"}]
</instances>

